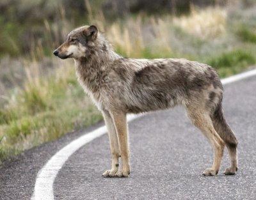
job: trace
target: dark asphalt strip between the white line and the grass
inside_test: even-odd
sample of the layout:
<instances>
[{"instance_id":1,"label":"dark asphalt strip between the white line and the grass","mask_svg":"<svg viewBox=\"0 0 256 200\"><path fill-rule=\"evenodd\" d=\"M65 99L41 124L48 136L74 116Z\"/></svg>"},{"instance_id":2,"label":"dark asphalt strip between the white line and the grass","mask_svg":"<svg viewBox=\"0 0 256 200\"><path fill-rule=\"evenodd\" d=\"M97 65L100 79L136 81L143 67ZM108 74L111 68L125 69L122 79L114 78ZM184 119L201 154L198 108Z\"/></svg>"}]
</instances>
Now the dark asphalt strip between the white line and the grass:
<instances>
[{"instance_id":1,"label":"dark asphalt strip between the white line and the grass","mask_svg":"<svg viewBox=\"0 0 256 200\"><path fill-rule=\"evenodd\" d=\"M104 125L98 123L86 130L66 134L58 141L47 142L25 151L0 167L0 199L30 199L35 187L36 174L56 151L66 146L80 135Z\"/></svg>"}]
</instances>

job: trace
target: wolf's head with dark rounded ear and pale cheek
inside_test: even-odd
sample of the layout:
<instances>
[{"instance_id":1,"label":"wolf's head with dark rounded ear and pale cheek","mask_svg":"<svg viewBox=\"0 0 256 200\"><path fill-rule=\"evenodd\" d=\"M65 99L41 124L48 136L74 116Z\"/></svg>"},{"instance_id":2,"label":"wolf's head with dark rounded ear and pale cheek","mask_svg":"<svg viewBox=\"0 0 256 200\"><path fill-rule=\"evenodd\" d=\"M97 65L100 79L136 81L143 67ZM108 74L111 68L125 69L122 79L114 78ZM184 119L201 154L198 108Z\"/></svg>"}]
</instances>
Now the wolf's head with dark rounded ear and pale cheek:
<instances>
[{"instance_id":1,"label":"wolf's head with dark rounded ear and pale cheek","mask_svg":"<svg viewBox=\"0 0 256 200\"><path fill-rule=\"evenodd\" d=\"M97 36L98 28L96 26L79 27L68 33L66 41L54 50L53 54L61 59L87 58L92 54L93 49L99 45Z\"/></svg>"}]
</instances>

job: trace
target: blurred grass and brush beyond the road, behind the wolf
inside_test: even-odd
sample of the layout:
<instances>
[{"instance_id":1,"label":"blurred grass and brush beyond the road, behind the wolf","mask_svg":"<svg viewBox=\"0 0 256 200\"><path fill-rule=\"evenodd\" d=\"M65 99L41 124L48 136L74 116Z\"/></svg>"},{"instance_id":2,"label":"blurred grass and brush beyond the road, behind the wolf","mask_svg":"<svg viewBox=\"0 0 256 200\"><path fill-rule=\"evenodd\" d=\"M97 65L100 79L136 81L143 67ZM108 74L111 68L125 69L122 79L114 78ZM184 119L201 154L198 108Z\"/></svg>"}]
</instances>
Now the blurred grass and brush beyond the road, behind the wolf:
<instances>
[{"instance_id":1,"label":"blurred grass and brush beyond the road, behind the wolf","mask_svg":"<svg viewBox=\"0 0 256 200\"><path fill-rule=\"evenodd\" d=\"M73 61L52 57L52 50L76 26L96 24L123 56L187 58L213 66L221 77L256 63L253 1L205 8L191 5L189 11L176 14L173 10L161 15L133 12L122 17L102 12L102 1L84 2L83 17L72 14L81 13L78 8L71 12L61 6L48 10L54 17L51 13L45 18L22 15L22 22L0 14L4 41L0 44L0 163L102 119L77 83ZM26 8L22 5L20 10ZM14 15L16 7L12 6L6 15ZM51 6L56 5L46 4L45 9Z\"/></svg>"}]
</instances>

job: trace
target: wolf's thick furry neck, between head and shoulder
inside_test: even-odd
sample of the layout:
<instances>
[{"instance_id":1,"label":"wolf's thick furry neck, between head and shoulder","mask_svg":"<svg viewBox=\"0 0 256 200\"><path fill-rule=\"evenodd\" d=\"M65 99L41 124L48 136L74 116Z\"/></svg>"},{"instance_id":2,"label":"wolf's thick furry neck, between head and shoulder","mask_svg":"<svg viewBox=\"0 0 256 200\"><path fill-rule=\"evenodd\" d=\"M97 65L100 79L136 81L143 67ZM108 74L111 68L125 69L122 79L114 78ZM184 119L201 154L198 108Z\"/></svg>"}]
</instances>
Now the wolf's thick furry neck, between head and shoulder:
<instances>
[{"instance_id":1,"label":"wolf's thick furry neck, between head and shoulder","mask_svg":"<svg viewBox=\"0 0 256 200\"><path fill-rule=\"evenodd\" d=\"M108 73L108 67L122 56L113 50L106 52L93 52L90 58L75 60L76 73L80 84L86 86L91 92L99 90Z\"/></svg>"}]
</instances>

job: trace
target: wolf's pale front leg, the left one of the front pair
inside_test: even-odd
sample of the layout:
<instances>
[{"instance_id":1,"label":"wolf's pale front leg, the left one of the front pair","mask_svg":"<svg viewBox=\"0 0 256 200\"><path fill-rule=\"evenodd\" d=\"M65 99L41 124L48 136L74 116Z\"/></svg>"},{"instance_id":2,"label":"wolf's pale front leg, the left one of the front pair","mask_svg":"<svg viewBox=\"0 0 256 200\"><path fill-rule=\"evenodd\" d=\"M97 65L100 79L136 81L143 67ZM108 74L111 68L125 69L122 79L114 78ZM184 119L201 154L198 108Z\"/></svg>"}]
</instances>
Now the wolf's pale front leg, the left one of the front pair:
<instances>
[{"instance_id":1,"label":"wolf's pale front leg, the left one of the front pair","mask_svg":"<svg viewBox=\"0 0 256 200\"><path fill-rule=\"evenodd\" d=\"M118 172L118 158L120 157L120 151L118 146L118 139L116 135L116 129L108 111L102 112L106 127L108 129L108 136L110 142L110 150L111 150L111 157L112 157L112 166L110 170L105 171L102 176L104 177L115 177L115 174Z\"/></svg>"}]
</instances>

